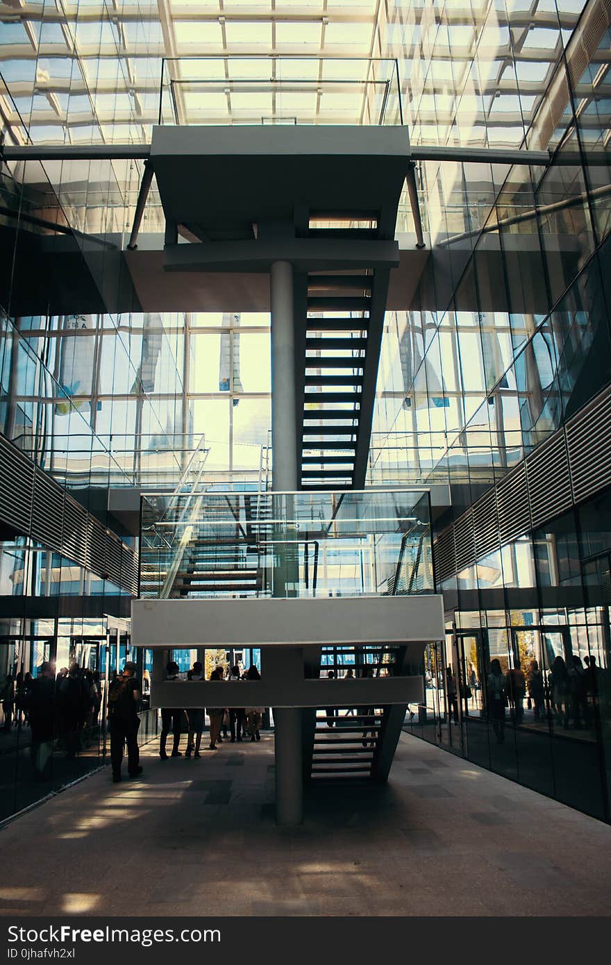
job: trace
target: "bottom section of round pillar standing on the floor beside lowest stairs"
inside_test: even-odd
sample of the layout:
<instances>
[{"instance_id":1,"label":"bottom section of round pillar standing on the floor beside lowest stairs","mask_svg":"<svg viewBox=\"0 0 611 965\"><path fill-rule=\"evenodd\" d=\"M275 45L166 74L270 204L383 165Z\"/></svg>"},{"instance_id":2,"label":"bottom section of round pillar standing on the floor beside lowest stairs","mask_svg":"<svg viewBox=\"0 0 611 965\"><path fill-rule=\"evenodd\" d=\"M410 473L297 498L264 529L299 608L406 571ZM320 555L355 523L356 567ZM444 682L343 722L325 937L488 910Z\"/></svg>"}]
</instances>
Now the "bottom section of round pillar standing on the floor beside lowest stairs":
<instances>
[{"instance_id":1,"label":"bottom section of round pillar standing on the floor beside lowest stairs","mask_svg":"<svg viewBox=\"0 0 611 965\"><path fill-rule=\"evenodd\" d=\"M300 824L303 820L303 770L301 711L298 707L274 707L276 762L276 823Z\"/></svg>"}]
</instances>

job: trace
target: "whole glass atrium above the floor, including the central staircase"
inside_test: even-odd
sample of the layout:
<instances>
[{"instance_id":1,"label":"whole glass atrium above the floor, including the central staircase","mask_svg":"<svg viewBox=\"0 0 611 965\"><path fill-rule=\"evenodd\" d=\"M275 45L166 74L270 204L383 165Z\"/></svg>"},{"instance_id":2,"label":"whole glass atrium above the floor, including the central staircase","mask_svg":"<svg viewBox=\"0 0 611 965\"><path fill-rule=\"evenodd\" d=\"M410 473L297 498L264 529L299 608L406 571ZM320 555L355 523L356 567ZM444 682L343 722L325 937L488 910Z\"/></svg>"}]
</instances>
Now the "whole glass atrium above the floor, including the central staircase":
<instances>
[{"instance_id":1,"label":"whole glass atrium above the floor, including the central staircase","mask_svg":"<svg viewBox=\"0 0 611 965\"><path fill-rule=\"evenodd\" d=\"M0 0L0 820L201 661L280 825L427 745L611 823L610 66L609 0Z\"/></svg>"}]
</instances>

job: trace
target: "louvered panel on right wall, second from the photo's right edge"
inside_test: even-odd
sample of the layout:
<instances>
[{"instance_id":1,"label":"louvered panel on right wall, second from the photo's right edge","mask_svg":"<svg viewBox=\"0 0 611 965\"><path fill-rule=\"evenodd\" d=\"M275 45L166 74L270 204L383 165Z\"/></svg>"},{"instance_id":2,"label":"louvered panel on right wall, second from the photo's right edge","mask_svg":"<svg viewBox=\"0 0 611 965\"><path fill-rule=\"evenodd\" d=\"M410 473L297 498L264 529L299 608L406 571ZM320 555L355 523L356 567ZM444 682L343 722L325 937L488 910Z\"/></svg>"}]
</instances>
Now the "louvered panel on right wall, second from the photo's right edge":
<instances>
[{"instance_id":1,"label":"louvered panel on right wall, second from the photo's right edge","mask_svg":"<svg viewBox=\"0 0 611 965\"><path fill-rule=\"evenodd\" d=\"M569 510L572 504L565 433L556 432L526 459L531 526Z\"/></svg>"}]
</instances>

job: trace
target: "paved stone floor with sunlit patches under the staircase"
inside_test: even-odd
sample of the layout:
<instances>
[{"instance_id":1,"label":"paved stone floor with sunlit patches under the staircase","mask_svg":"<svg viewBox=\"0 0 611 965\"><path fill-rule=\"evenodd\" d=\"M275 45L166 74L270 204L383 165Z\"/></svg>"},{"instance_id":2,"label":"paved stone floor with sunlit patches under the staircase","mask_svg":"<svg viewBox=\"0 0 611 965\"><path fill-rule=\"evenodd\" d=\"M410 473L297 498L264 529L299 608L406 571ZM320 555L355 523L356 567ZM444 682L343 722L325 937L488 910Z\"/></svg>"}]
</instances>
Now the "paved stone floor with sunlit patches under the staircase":
<instances>
[{"instance_id":1,"label":"paved stone floor with sunlit patches under the staircase","mask_svg":"<svg viewBox=\"0 0 611 965\"><path fill-rule=\"evenodd\" d=\"M403 734L273 822L273 738L88 778L0 832L3 915L608 915L611 827Z\"/></svg>"}]
</instances>

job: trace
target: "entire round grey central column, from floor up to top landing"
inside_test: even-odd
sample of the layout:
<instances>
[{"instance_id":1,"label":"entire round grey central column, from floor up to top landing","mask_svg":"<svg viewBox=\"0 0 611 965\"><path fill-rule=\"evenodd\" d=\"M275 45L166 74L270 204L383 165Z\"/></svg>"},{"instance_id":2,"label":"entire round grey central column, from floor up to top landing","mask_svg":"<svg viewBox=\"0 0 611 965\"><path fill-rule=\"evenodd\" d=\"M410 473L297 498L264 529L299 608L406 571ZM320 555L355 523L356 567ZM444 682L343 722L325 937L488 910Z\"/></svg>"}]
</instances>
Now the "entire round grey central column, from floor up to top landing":
<instances>
[{"instance_id":1,"label":"entire round grey central column, from floor up to top landing","mask_svg":"<svg viewBox=\"0 0 611 965\"><path fill-rule=\"evenodd\" d=\"M270 270L271 295L271 487L275 492L294 491L297 477L297 412L295 403L294 314L292 264L274 262ZM291 505L291 501L289 501ZM287 538L287 534L284 534ZM286 553L280 554L283 569ZM285 577L288 576L285 573ZM275 579L280 593L285 579ZM282 595L285 593L283 592ZM280 654L275 654L280 656ZM288 655L289 656L289 655ZM280 661L282 663L282 661ZM291 674L291 659L287 672ZM269 664L268 664L269 666ZM271 667L269 668L271 671ZM297 670L299 673L299 670ZM300 824L303 820L303 749L301 711L298 707L276 707L274 752L276 763L276 822Z\"/></svg>"}]
</instances>

